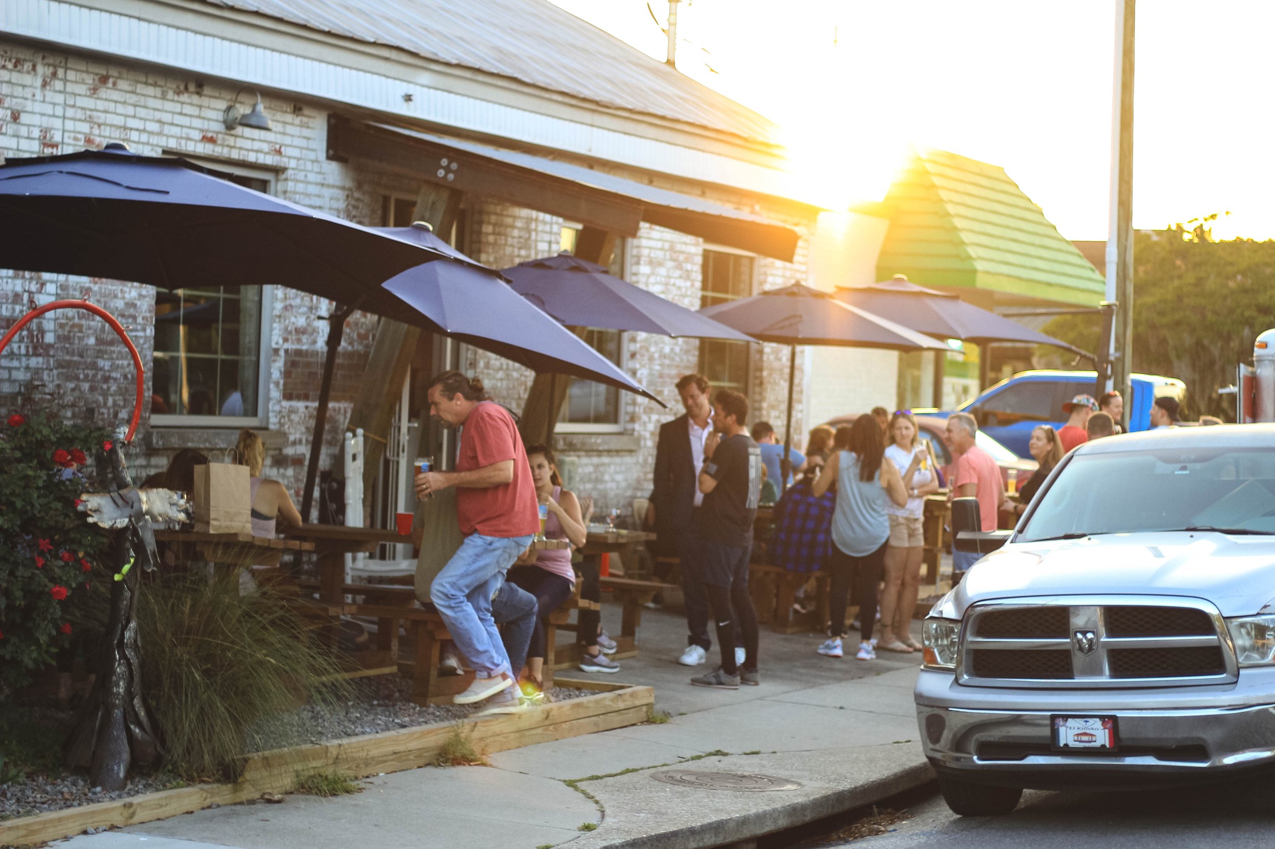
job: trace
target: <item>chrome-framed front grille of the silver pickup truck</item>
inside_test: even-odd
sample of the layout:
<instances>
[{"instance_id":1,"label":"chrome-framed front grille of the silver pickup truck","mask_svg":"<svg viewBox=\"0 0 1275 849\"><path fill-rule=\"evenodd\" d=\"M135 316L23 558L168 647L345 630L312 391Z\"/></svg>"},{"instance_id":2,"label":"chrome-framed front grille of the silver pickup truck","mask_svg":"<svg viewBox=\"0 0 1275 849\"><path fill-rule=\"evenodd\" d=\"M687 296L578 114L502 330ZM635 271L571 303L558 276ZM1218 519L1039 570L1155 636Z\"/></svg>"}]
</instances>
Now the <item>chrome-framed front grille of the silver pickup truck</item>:
<instances>
[{"instance_id":1,"label":"chrome-framed front grille of the silver pickup truck","mask_svg":"<svg viewBox=\"0 0 1275 849\"><path fill-rule=\"evenodd\" d=\"M964 685L1163 687L1237 677L1225 625L1198 599L986 602L965 621L958 664Z\"/></svg>"}]
</instances>

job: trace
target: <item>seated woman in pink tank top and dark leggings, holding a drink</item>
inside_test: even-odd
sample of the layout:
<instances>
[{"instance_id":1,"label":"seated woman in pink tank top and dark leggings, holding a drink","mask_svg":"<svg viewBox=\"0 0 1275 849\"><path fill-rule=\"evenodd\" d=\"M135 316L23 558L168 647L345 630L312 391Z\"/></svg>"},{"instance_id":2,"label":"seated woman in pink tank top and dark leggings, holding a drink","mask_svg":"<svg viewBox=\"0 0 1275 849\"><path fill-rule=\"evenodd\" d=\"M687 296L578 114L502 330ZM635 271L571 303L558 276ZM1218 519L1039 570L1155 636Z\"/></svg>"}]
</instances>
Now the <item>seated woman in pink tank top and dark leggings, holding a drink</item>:
<instances>
[{"instance_id":1,"label":"seated woman in pink tank top and dark leggings, holding a drink","mask_svg":"<svg viewBox=\"0 0 1275 849\"><path fill-rule=\"evenodd\" d=\"M588 533L580 515L580 501L575 493L562 488L553 451L544 445L529 445L527 463L532 467L536 497L548 507L544 535L550 539L567 539L572 548L579 548ZM536 630L527 648L527 678L541 691L544 688L544 623L550 613L570 598L575 589L571 549L530 551L509 570L506 580L536 597Z\"/></svg>"}]
</instances>

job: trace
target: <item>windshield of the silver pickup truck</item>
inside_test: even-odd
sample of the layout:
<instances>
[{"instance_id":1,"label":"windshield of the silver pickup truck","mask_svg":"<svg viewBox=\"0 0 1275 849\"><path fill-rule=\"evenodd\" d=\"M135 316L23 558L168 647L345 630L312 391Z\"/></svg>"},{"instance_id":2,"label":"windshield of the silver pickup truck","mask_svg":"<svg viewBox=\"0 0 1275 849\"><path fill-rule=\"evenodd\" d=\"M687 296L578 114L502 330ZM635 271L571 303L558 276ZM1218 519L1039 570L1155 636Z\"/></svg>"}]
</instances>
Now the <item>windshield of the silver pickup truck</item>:
<instances>
[{"instance_id":1,"label":"windshield of the silver pickup truck","mask_svg":"<svg viewBox=\"0 0 1275 849\"><path fill-rule=\"evenodd\" d=\"M1275 447L1072 456L1017 541L1204 529L1275 534Z\"/></svg>"}]
</instances>

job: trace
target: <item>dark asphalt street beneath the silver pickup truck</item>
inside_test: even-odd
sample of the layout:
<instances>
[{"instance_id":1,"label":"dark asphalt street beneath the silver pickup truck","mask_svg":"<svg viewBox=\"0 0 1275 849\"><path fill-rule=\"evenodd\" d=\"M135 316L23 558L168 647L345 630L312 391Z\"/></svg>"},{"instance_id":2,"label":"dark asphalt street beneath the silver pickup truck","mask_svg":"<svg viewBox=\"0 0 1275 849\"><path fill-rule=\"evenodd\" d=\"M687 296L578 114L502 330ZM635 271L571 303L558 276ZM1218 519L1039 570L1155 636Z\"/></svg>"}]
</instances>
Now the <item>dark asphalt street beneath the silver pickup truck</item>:
<instances>
[{"instance_id":1,"label":"dark asphalt street beneath the silver pickup truck","mask_svg":"<svg viewBox=\"0 0 1275 849\"><path fill-rule=\"evenodd\" d=\"M1275 846L1275 778L1144 792L1028 790L1005 817L959 817L937 793L895 831L822 846L854 849L1191 849ZM803 844L812 845L810 843Z\"/></svg>"}]
</instances>

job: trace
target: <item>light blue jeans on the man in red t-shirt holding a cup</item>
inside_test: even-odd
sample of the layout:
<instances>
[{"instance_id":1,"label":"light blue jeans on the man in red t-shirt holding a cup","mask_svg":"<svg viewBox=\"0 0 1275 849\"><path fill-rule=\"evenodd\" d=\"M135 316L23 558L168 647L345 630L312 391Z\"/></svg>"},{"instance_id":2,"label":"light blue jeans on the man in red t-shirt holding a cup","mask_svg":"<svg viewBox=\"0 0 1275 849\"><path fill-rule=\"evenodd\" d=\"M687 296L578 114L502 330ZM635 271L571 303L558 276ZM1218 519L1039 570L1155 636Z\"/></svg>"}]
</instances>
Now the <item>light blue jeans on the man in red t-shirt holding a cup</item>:
<instances>
[{"instance_id":1,"label":"light blue jeans on the man in red t-shirt holding a cup","mask_svg":"<svg viewBox=\"0 0 1275 849\"><path fill-rule=\"evenodd\" d=\"M533 537L469 534L430 585L430 600L479 678L513 674L491 599Z\"/></svg>"}]
</instances>

